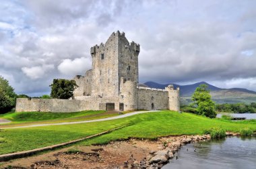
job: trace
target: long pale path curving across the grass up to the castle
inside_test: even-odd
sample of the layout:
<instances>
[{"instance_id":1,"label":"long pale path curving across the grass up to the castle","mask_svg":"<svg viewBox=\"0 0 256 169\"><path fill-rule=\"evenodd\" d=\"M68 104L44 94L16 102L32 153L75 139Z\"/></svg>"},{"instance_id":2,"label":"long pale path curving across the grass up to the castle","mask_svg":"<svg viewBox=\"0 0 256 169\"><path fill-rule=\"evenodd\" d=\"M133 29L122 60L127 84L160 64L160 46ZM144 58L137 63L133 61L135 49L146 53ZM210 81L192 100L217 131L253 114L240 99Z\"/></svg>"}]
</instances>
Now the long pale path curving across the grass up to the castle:
<instances>
[{"instance_id":1,"label":"long pale path curving across the grass up to the castle","mask_svg":"<svg viewBox=\"0 0 256 169\"><path fill-rule=\"evenodd\" d=\"M17 128L26 128L26 127L41 127L41 126L48 126L48 125L69 125L69 124L79 124L79 123L92 123L92 122L97 122L97 121L121 119L121 118L129 117L132 115L137 115L137 114L141 114L141 113L151 113L151 112L157 112L157 111L135 111L133 113L127 113L125 115L119 115L119 116L115 116L115 117L107 117L104 119L94 119L94 120L87 120L87 121L73 121L73 122L63 122L63 123L24 125L24 126L17 126L17 127L0 127L0 129L17 129Z\"/></svg>"}]
</instances>

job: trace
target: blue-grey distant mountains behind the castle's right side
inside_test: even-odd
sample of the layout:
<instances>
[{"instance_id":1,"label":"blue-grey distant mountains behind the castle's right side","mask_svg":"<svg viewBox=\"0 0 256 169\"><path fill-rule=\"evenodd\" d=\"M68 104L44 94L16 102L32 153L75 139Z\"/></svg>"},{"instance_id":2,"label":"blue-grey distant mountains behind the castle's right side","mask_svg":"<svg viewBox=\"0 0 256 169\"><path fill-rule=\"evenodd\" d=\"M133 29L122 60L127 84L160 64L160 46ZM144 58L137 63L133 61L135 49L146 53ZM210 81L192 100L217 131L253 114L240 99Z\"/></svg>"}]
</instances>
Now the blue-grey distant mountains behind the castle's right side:
<instances>
[{"instance_id":1,"label":"blue-grey distant mountains behind the castle's right side","mask_svg":"<svg viewBox=\"0 0 256 169\"><path fill-rule=\"evenodd\" d=\"M157 82L145 82L148 87L164 89L168 86L168 84L158 84ZM170 84L170 83L169 83ZM251 103L256 102L256 92L249 91L248 89L243 88L232 88L232 89L222 89L219 87L215 87L212 84L207 82L197 82L195 84L188 85L179 85L173 84L174 88L180 87L180 95L181 101L183 104L187 104L190 102L190 97L194 93L195 89L199 87L200 84L207 84L208 89L210 89L210 93L212 95L212 99L216 101L216 103Z\"/></svg>"}]
</instances>

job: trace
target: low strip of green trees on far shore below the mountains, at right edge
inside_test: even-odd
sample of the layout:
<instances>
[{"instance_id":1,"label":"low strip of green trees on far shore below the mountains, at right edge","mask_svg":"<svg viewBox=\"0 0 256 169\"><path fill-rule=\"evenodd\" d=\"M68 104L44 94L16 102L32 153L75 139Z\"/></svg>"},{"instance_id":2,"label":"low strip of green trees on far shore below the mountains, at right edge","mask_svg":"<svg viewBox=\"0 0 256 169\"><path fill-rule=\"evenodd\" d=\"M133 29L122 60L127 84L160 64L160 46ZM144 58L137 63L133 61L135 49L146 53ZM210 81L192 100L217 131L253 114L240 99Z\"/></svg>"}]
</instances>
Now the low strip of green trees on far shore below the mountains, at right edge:
<instances>
[{"instance_id":1,"label":"low strip of green trees on far shore below the mountains, at right edge","mask_svg":"<svg viewBox=\"0 0 256 169\"><path fill-rule=\"evenodd\" d=\"M216 105L216 111L228 113L256 113L256 103L247 105L245 103L224 103Z\"/></svg>"}]
</instances>

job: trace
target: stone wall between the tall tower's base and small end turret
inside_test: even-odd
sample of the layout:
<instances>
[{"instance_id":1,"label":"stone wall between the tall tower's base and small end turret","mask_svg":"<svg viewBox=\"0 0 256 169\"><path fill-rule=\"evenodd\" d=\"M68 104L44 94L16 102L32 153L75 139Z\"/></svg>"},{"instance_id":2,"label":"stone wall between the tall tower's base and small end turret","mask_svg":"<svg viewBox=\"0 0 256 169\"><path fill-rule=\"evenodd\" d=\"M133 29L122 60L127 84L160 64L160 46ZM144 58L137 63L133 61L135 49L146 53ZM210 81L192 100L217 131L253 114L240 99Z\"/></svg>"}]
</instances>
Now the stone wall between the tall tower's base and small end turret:
<instances>
[{"instance_id":1,"label":"stone wall between the tall tower's base and small end turret","mask_svg":"<svg viewBox=\"0 0 256 169\"><path fill-rule=\"evenodd\" d=\"M148 87L137 87L137 109L168 109L168 91Z\"/></svg>"}]
</instances>

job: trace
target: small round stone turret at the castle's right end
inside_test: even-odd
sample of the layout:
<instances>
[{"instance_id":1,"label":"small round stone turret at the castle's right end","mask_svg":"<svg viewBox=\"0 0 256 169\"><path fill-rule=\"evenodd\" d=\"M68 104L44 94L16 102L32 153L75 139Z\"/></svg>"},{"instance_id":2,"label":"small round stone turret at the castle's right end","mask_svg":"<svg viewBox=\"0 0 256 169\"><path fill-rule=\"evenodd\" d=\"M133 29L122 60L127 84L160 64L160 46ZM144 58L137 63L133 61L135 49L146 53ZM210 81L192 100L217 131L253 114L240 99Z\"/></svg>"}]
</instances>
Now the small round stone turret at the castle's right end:
<instances>
[{"instance_id":1,"label":"small round stone turret at the castle's right end","mask_svg":"<svg viewBox=\"0 0 256 169\"><path fill-rule=\"evenodd\" d=\"M179 87L177 87L177 89L174 90L173 85L169 84L168 87L165 88L165 90L168 91L169 110L180 111L180 101L179 101L180 89L179 89Z\"/></svg>"}]
</instances>

